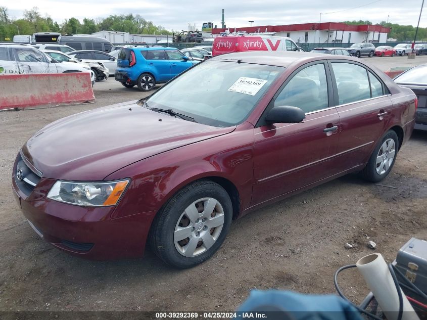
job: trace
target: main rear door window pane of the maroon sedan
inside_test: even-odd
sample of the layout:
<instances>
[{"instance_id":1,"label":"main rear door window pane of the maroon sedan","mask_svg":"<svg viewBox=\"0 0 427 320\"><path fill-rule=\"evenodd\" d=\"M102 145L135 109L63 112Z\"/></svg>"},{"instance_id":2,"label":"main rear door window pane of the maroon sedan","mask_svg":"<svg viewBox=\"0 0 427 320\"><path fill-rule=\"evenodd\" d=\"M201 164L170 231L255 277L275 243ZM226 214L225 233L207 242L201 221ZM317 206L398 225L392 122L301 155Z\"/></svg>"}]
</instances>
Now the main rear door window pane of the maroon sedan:
<instances>
[{"instance_id":1,"label":"main rear door window pane of the maroon sedan","mask_svg":"<svg viewBox=\"0 0 427 320\"><path fill-rule=\"evenodd\" d=\"M365 68L352 63L333 62L332 69L337 81L340 105L371 97L368 73Z\"/></svg>"}]
</instances>

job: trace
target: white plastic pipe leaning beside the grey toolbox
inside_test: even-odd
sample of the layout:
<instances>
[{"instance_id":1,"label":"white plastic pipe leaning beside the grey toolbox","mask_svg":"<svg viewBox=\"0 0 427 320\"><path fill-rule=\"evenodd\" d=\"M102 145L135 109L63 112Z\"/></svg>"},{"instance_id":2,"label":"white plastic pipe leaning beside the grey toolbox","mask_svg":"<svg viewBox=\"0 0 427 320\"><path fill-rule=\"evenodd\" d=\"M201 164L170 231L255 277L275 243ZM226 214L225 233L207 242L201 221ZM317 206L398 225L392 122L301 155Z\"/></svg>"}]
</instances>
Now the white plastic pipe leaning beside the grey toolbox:
<instances>
[{"instance_id":1,"label":"white plastic pipe leaning beside the grey toolbox","mask_svg":"<svg viewBox=\"0 0 427 320\"><path fill-rule=\"evenodd\" d=\"M399 296L390 274L389 267L380 253L364 256L356 262L357 269L362 273L368 288L378 301L388 320L397 320L399 313ZM406 299L402 289L403 315L402 320L419 320L417 314Z\"/></svg>"}]
</instances>

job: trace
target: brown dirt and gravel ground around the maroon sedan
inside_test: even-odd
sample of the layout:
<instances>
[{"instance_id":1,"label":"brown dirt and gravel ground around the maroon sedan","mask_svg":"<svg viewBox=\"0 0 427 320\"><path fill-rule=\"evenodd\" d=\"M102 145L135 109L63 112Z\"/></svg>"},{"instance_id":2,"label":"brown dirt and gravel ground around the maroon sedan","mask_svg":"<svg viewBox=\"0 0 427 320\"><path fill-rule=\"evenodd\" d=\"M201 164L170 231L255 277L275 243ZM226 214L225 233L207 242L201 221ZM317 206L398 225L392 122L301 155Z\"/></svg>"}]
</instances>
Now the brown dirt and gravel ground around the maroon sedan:
<instances>
[{"instance_id":1,"label":"brown dirt and gravel ground around the maroon sedan","mask_svg":"<svg viewBox=\"0 0 427 320\"><path fill-rule=\"evenodd\" d=\"M386 70L427 57L369 61ZM231 311L252 288L335 293L335 270L372 252L367 237L387 261L411 237L427 239L427 132L415 131L382 182L397 189L356 174L331 181L234 221L221 249L195 268L172 269L150 252L109 262L69 256L31 230L12 196L11 168L42 126L144 97L112 78L96 83L94 92L91 105L0 113L0 310ZM345 249L346 242L355 247ZM358 302L367 293L357 271L346 272L341 285Z\"/></svg>"}]
</instances>

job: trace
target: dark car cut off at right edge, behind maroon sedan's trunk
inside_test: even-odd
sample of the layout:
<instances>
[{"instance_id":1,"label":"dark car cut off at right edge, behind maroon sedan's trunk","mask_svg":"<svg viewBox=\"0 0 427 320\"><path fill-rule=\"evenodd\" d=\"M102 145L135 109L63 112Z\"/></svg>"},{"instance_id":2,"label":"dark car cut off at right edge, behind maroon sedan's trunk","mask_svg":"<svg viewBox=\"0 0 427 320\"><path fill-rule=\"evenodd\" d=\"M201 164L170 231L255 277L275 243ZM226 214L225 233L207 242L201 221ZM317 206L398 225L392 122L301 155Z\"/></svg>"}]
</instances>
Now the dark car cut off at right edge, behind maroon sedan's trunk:
<instances>
[{"instance_id":1,"label":"dark car cut off at right edge, behind maroon sedan's trunk","mask_svg":"<svg viewBox=\"0 0 427 320\"><path fill-rule=\"evenodd\" d=\"M415 129L427 130L427 64L412 67L394 78L400 86L410 88L418 98Z\"/></svg>"}]
</instances>

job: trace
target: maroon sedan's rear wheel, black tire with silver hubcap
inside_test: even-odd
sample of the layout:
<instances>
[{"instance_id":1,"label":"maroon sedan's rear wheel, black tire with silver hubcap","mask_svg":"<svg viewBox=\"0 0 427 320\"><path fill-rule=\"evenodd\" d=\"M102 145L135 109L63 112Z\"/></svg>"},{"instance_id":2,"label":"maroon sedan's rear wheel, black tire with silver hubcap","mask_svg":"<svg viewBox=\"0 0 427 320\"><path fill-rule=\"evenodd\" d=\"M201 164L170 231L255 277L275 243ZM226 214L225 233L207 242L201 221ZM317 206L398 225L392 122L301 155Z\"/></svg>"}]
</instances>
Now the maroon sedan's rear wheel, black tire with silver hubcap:
<instances>
[{"instance_id":1,"label":"maroon sedan's rear wheel, black tire with silver hubcap","mask_svg":"<svg viewBox=\"0 0 427 320\"><path fill-rule=\"evenodd\" d=\"M395 131L389 130L379 140L366 167L362 170L363 178L371 182L383 180L392 170L399 150L399 139ZM393 154L392 154L393 153Z\"/></svg>"}]
</instances>

